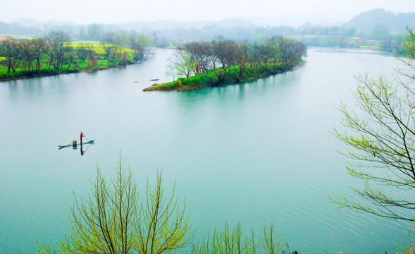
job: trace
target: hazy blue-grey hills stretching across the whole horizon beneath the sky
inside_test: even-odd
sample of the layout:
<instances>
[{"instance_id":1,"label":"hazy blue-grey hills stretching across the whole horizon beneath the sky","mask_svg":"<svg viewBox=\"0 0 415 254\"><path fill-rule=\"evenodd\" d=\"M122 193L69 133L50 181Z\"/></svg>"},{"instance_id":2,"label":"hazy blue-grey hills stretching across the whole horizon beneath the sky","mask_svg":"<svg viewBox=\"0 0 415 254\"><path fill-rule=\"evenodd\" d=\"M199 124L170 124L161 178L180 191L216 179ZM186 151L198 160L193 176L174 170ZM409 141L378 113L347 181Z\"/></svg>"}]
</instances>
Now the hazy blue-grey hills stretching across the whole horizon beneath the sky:
<instances>
[{"instance_id":1,"label":"hazy blue-grey hills stretching across the whole horizon beneath the sky","mask_svg":"<svg viewBox=\"0 0 415 254\"><path fill-rule=\"evenodd\" d=\"M277 19L275 19L277 20ZM46 35L51 30L63 30L72 38L101 40L119 30L135 30L151 36L169 40L213 40L221 35L233 40L252 40L257 36L272 35L340 35L368 37L373 40L379 35L404 34L405 27L415 28L415 13L392 13L383 9L366 11L355 16L345 24L312 25L305 23L295 28L290 25L270 26L254 23L245 19L205 20L205 21L131 21L127 23L80 25L69 21L39 21L29 18L18 18L13 23L0 22L0 34L6 35ZM92 27L96 31L92 31ZM376 32L374 32L376 28ZM98 30L97 30L98 29ZM91 31L90 31L91 30ZM345 33L345 31L346 33ZM92 36L91 32L100 36ZM380 39L379 39L380 40Z\"/></svg>"}]
</instances>

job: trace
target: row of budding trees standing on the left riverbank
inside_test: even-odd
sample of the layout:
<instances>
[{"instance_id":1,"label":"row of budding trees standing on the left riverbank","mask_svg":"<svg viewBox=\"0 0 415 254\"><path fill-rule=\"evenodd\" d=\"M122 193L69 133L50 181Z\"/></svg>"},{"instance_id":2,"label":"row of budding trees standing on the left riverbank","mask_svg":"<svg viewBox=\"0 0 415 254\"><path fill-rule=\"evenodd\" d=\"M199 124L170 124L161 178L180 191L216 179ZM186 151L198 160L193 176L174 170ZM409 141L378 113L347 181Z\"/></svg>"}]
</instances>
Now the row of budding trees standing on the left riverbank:
<instances>
[{"instance_id":1,"label":"row of budding trees standing on the left riverbank","mask_svg":"<svg viewBox=\"0 0 415 254\"><path fill-rule=\"evenodd\" d=\"M65 65L69 69L73 64L87 61L87 66L97 66L99 57L108 63L125 65L131 61L139 61L150 54L151 38L136 32L120 32L117 36L107 37L99 44L81 44L73 46L70 37L62 31L52 30L44 37L30 40L13 40L8 38L0 43L0 62L6 66L7 73L16 73L20 68L25 75L33 75L42 71L61 70ZM121 36L123 35L123 36ZM104 52L98 54L97 52ZM131 55L128 59L128 55Z\"/></svg>"}]
</instances>

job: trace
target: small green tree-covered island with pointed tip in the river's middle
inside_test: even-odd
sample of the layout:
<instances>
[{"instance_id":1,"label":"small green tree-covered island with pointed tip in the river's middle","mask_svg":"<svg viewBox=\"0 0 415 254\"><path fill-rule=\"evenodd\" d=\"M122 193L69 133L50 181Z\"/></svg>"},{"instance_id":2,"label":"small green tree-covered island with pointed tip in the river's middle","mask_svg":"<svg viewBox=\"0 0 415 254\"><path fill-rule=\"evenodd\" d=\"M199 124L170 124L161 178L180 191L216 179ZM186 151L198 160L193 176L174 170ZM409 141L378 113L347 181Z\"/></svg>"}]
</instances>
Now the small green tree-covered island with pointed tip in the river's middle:
<instances>
[{"instance_id":1,"label":"small green tree-covered island with pointed tip in the river's middle","mask_svg":"<svg viewBox=\"0 0 415 254\"><path fill-rule=\"evenodd\" d=\"M178 47L168 74L175 81L154 84L143 91L192 90L240 83L290 71L302 63L306 45L282 36L261 44L235 40L190 42Z\"/></svg>"}]
</instances>

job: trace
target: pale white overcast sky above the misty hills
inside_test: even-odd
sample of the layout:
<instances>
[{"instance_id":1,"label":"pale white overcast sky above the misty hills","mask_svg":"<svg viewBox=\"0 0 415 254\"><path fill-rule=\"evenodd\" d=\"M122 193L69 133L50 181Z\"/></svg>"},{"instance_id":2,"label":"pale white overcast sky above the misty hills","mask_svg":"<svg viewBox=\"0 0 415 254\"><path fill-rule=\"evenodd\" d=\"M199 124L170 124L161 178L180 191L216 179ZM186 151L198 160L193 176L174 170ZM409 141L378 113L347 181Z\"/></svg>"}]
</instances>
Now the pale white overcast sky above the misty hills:
<instances>
[{"instance_id":1,"label":"pale white overcast sky above the misty hills","mask_svg":"<svg viewBox=\"0 0 415 254\"><path fill-rule=\"evenodd\" d=\"M32 18L108 24L247 18L296 25L305 21L345 22L373 8L415 12L415 0L16 0L2 1L0 21Z\"/></svg>"}]
</instances>

